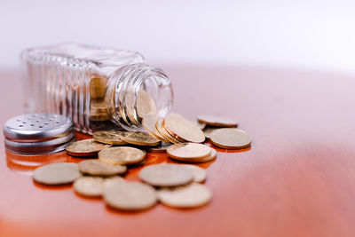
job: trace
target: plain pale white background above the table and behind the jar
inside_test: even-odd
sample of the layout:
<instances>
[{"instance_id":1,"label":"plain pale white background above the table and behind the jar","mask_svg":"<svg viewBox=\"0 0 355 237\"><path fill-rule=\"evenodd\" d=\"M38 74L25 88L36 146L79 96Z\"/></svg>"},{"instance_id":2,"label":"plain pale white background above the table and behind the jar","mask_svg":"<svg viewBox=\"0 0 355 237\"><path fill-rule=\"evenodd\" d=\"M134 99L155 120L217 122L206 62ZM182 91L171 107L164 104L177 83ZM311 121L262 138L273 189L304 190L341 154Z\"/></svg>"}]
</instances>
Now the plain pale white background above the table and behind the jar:
<instances>
[{"instance_id":1,"label":"plain pale white background above the table and behind the jar","mask_svg":"<svg viewBox=\"0 0 355 237\"><path fill-rule=\"evenodd\" d=\"M0 67L67 41L152 63L296 67L355 74L355 1L0 0Z\"/></svg>"}]
</instances>

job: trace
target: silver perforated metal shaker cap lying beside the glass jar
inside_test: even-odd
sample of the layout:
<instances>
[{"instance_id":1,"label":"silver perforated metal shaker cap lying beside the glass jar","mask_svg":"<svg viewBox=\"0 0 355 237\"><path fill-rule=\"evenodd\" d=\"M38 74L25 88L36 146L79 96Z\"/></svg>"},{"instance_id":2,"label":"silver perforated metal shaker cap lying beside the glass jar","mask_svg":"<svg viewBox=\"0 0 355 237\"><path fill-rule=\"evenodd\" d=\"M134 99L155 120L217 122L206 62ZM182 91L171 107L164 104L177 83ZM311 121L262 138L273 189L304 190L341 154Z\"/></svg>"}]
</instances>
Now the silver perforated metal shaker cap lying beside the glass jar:
<instances>
[{"instance_id":1,"label":"silver perforated metal shaker cap lying beside the glass jar","mask_svg":"<svg viewBox=\"0 0 355 237\"><path fill-rule=\"evenodd\" d=\"M64 115L38 113L13 117L4 124L7 150L18 154L50 154L74 138L73 122Z\"/></svg>"}]
</instances>

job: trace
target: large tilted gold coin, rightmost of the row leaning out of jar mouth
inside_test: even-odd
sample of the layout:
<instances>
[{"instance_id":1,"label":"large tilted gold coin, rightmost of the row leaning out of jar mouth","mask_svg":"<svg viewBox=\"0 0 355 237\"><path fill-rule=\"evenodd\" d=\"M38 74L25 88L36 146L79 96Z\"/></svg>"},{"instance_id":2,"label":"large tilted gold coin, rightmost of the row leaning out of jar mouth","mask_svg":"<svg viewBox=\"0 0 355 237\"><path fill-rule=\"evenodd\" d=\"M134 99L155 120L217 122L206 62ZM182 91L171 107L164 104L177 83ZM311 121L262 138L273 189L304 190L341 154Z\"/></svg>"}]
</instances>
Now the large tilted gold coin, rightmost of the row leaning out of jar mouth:
<instances>
[{"instance_id":1,"label":"large tilted gold coin, rightmost of the row leaning out of jar mouth","mask_svg":"<svg viewBox=\"0 0 355 237\"><path fill-rule=\"evenodd\" d=\"M205 140L202 130L181 115L170 114L165 117L162 126L175 138L183 141L201 143Z\"/></svg>"}]
</instances>

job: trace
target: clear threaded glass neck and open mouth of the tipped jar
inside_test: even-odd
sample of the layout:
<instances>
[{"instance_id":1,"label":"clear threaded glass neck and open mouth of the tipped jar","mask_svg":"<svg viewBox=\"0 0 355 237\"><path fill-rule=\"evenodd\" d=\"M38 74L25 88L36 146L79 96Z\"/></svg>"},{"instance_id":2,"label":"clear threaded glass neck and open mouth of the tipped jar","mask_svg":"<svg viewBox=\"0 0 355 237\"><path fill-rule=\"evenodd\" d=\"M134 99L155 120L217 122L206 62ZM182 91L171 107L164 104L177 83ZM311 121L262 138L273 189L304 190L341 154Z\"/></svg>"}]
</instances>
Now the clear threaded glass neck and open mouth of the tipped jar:
<instances>
[{"instance_id":1,"label":"clear threaded glass neck and open mouth of the tipped jar","mask_svg":"<svg viewBox=\"0 0 355 237\"><path fill-rule=\"evenodd\" d=\"M108 113L125 130L142 130L145 115L164 117L172 103L170 78L160 68L131 64L116 70L108 80Z\"/></svg>"}]
</instances>

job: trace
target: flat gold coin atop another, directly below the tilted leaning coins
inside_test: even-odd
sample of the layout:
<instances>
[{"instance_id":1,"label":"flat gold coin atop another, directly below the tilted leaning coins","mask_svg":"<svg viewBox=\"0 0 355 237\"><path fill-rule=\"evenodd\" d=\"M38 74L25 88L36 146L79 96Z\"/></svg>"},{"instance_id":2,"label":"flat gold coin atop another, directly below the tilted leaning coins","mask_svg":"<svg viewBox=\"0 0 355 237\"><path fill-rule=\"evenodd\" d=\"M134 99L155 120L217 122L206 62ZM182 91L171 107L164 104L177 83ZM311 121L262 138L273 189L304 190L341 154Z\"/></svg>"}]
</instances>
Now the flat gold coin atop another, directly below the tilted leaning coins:
<instances>
[{"instance_id":1,"label":"flat gold coin atop another, directly below the tilted leaning coins","mask_svg":"<svg viewBox=\"0 0 355 237\"><path fill-rule=\"evenodd\" d=\"M199 143L180 143L169 146L167 153L170 157L178 159L204 158L209 156L211 149Z\"/></svg>"}]
</instances>

